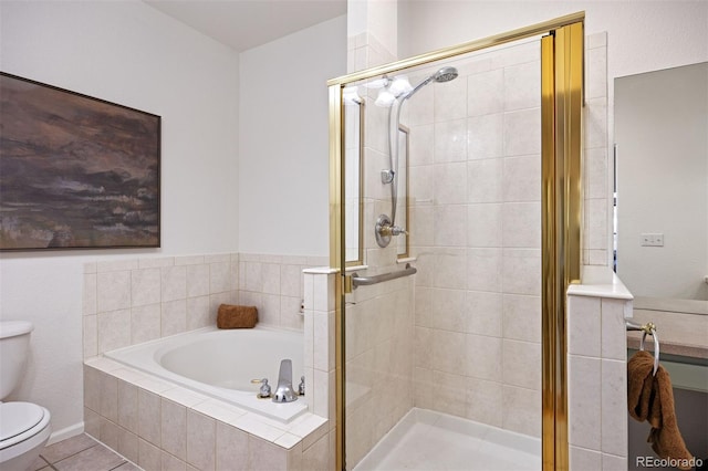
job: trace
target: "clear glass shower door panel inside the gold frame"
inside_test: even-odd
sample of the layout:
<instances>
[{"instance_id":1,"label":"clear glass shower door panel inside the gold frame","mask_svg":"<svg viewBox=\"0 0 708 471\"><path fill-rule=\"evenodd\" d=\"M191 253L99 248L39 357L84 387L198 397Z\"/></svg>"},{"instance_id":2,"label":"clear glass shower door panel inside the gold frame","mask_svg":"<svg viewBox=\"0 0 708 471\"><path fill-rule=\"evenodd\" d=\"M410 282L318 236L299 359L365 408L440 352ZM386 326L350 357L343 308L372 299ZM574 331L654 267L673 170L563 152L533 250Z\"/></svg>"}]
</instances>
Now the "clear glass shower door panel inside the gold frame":
<instances>
[{"instance_id":1,"label":"clear glass shower door panel inside the gold frame","mask_svg":"<svg viewBox=\"0 0 708 471\"><path fill-rule=\"evenodd\" d=\"M545 462L541 55L529 34L346 84L364 117L362 254L341 264L343 469Z\"/></svg>"}]
</instances>

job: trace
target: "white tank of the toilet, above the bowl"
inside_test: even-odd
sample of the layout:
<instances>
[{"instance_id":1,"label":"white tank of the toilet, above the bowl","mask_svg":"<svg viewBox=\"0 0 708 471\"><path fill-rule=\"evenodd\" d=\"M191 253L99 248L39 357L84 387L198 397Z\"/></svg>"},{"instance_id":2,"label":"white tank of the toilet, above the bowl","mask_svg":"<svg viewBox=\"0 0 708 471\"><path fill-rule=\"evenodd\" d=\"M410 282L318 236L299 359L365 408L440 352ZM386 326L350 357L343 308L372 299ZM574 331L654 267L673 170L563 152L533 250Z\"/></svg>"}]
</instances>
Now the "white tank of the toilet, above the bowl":
<instances>
[{"instance_id":1,"label":"white tank of the toilet, above the bowl","mask_svg":"<svg viewBox=\"0 0 708 471\"><path fill-rule=\"evenodd\" d=\"M8 397L22 378L33 328L27 321L0 321L0 400Z\"/></svg>"}]
</instances>

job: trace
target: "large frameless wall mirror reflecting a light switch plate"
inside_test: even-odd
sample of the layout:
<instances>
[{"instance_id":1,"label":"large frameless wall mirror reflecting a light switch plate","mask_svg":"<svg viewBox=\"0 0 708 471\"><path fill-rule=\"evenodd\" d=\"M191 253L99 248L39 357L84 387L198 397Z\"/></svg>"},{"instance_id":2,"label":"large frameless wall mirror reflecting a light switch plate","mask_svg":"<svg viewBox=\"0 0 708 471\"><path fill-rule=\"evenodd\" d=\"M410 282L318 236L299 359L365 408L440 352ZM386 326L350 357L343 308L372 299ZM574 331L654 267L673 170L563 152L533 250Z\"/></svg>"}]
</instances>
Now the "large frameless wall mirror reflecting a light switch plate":
<instances>
[{"instance_id":1,"label":"large frameless wall mirror reflecting a light switch plate","mask_svg":"<svg viewBox=\"0 0 708 471\"><path fill-rule=\"evenodd\" d=\"M708 63L616 78L615 143L617 275L708 301Z\"/></svg>"}]
</instances>

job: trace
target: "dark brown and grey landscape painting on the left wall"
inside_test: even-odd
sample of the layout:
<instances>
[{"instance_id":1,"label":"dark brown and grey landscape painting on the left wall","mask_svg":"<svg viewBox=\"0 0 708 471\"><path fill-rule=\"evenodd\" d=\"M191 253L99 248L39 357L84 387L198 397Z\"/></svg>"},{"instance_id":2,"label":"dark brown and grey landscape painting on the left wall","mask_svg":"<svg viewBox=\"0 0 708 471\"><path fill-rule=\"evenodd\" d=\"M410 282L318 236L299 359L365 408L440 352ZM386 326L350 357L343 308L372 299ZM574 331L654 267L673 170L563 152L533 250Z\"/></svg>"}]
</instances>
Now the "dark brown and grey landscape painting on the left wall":
<instances>
[{"instance_id":1,"label":"dark brown and grey landscape painting on the left wall","mask_svg":"<svg viewBox=\"0 0 708 471\"><path fill-rule=\"evenodd\" d=\"M0 250L159 247L160 117L0 73Z\"/></svg>"}]
</instances>

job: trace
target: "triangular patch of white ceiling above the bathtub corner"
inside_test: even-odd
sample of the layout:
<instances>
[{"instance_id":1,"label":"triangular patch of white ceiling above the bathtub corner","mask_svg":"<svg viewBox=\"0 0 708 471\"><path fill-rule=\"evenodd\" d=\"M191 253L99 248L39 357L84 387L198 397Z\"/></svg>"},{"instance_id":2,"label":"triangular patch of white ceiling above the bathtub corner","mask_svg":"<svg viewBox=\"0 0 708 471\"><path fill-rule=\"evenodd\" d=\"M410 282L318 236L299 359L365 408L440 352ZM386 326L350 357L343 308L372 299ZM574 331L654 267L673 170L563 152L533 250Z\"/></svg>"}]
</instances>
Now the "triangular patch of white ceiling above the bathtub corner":
<instances>
[{"instance_id":1,"label":"triangular patch of white ceiling above the bathtub corner","mask_svg":"<svg viewBox=\"0 0 708 471\"><path fill-rule=\"evenodd\" d=\"M346 0L145 0L238 52L346 13Z\"/></svg>"}]
</instances>

